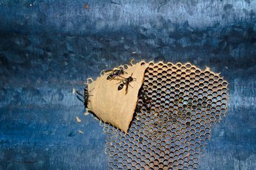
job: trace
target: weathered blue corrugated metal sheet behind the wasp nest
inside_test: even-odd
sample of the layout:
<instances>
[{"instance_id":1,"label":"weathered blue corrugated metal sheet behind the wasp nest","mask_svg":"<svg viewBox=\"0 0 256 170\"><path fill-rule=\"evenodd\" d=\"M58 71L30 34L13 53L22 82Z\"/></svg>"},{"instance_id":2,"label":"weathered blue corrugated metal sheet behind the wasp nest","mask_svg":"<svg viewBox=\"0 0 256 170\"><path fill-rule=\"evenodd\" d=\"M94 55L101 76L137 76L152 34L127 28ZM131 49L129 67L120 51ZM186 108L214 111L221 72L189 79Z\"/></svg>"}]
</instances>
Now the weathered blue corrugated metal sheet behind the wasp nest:
<instances>
[{"instance_id":1,"label":"weathered blue corrugated metal sheet behind the wasp nest","mask_svg":"<svg viewBox=\"0 0 256 170\"><path fill-rule=\"evenodd\" d=\"M106 169L106 134L72 88L132 58L221 72L227 117L200 169L256 169L255 15L250 0L0 1L0 169Z\"/></svg>"}]
</instances>

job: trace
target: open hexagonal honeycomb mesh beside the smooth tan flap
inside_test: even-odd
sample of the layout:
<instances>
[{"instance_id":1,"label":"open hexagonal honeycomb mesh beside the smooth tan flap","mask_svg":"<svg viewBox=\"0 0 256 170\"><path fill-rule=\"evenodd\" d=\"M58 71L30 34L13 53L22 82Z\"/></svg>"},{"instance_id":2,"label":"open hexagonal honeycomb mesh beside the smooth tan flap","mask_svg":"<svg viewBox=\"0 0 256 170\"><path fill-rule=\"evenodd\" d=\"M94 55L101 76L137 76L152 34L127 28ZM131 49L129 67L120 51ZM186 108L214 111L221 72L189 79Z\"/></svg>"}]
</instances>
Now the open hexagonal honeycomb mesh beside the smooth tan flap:
<instances>
[{"instance_id":1,"label":"open hexagonal honeycomb mesh beside the smooth tan flap","mask_svg":"<svg viewBox=\"0 0 256 170\"><path fill-rule=\"evenodd\" d=\"M211 127L225 116L227 81L190 63L150 62L143 86L150 111L139 96L127 134L104 125L109 169L198 169Z\"/></svg>"}]
</instances>

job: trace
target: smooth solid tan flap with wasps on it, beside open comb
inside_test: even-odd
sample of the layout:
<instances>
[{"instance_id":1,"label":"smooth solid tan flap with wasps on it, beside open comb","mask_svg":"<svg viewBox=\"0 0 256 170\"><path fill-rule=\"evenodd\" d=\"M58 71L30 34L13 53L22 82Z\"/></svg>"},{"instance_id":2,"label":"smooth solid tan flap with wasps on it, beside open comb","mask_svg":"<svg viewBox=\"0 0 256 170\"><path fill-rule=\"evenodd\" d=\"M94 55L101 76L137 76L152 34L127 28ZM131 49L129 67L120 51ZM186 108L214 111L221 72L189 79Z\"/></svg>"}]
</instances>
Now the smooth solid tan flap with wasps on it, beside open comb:
<instances>
[{"instance_id":1,"label":"smooth solid tan flap with wasps on it, beside open comb","mask_svg":"<svg viewBox=\"0 0 256 170\"><path fill-rule=\"evenodd\" d=\"M118 81L116 78L107 80L108 74L100 75L95 81L88 83L88 91L90 91L90 102L88 102L88 110L94 112L104 123L110 123L114 127L120 128L127 132L129 124L132 120L136 102L138 100L138 91L143 83L144 72L148 67L148 63L141 61L136 65L124 65L127 67L123 74L124 77L136 78L130 82L127 94L125 94L125 86L118 90ZM119 69L119 68L114 68Z\"/></svg>"}]
</instances>

